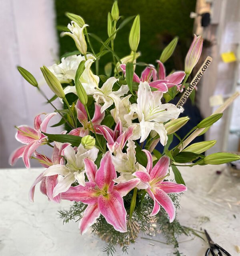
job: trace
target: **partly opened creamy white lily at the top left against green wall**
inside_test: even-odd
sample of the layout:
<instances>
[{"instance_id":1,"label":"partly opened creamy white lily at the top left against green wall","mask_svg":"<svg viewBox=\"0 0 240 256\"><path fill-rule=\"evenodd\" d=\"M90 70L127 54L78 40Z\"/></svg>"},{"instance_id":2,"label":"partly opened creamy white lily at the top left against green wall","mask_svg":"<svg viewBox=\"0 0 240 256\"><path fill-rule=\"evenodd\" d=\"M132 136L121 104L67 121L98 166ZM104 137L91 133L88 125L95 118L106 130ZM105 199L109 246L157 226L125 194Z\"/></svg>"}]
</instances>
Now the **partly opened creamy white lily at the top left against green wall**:
<instances>
[{"instance_id":1,"label":"partly opened creamy white lily at the top left against green wall","mask_svg":"<svg viewBox=\"0 0 240 256\"><path fill-rule=\"evenodd\" d=\"M68 29L71 32L63 32L61 35L62 36L71 36L71 38L74 40L78 50L86 55L87 54L87 43L85 40L85 36L84 36L84 28L86 28L88 25L84 24L82 27L78 26L78 24L74 21L71 22L71 24L68 24Z\"/></svg>"}]
</instances>

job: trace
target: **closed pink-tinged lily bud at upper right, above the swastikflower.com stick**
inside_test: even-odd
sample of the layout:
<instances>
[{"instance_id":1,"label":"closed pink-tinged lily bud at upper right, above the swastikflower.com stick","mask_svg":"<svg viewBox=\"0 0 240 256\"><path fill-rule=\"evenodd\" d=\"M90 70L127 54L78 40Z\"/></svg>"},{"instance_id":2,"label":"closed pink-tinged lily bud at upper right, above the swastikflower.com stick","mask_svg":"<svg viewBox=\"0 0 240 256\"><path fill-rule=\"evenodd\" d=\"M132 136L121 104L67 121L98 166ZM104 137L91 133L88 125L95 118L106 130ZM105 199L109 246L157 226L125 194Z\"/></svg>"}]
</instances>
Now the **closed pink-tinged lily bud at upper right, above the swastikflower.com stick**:
<instances>
[{"instance_id":1,"label":"closed pink-tinged lily bud at upper right, above the swastikflower.com stick","mask_svg":"<svg viewBox=\"0 0 240 256\"><path fill-rule=\"evenodd\" d=\"M198 63L198 60L202 53L202 43L203 39L202 36L196 36L194 35L194 39L192 41L192 44L190 46L190 49L188 50L188 53L185 58L185 73L191 74L193 68Z\"/></svg>"}]
</instances>

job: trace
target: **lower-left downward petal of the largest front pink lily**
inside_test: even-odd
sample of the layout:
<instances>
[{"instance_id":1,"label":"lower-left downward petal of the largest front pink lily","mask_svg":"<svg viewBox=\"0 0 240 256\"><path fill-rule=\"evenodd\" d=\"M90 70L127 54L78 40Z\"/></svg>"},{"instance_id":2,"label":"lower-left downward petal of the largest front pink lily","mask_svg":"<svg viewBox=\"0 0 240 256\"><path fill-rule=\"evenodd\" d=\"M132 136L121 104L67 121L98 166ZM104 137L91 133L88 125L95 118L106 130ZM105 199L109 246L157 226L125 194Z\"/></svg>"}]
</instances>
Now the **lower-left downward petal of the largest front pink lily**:
<instances>
[{"instance_id":1,"label":"lower-left downward petal of the largest front pink lily","mask_svg":"<svg viewBox=\"0 0 240 256\"><path fill-rule=\"evenodd\" d=\"M99 216L100 210L98 209L98 204L88 205L79 222L80 234L83 235L86 233L88 228L94 224Z\"/></svg>"}]
</instances>

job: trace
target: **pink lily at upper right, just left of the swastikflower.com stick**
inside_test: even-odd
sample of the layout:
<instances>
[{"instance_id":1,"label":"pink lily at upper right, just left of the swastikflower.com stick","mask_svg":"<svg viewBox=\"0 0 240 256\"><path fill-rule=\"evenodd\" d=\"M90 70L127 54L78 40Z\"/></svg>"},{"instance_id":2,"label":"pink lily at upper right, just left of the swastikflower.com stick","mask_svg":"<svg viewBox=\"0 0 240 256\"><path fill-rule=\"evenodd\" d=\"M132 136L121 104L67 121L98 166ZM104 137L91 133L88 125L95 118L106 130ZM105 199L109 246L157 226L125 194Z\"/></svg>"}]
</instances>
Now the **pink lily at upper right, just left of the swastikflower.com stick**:
<instances>
[{"instance_id":1,"label":"pink lily at upper right, just left of the swastikflower.com stick","mask_svg":"<svg viewBox=\"0 0 240 256\"><path fill-rule=\"evenodd\" d=\"M133 75L133 82L148 82L148 84L151 87L157 88L160 92L167 92L168 88L171 88L173 86L177 86L179 89L178 84L182 82L185 76L184 71L177 71L169 76L166 77L166 70L162 62L160 60L157 61L159 64L159 72L157 74L157 71L153 65L147 66L139 78L136 73ZM121 64L121 69L124 74L126 74L126 65ZM151 82L151 80L153 80Z\"/></svg>"}]
</instances>

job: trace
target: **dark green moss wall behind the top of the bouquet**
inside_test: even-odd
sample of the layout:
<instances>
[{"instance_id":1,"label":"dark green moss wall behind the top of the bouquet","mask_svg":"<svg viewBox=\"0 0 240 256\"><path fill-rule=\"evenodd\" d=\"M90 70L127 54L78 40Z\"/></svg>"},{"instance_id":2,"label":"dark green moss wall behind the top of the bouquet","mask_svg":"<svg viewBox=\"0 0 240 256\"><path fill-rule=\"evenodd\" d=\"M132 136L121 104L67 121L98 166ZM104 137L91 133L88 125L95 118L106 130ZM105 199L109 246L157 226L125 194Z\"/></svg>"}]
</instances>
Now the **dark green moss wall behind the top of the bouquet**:
<instances>
[{"instance_id":1,"label":"dark green moss wall behind the top of the bouquet","mask_svg":"<svg viewBox=\"0 0 240 256\"><path fill-rule=\"evenodd\" d=\"M65 12L72 12L82 16L89 25L88 31L100 36L103 40L107 36L107 14L111 10L112 0L55 0L57 25L66 26L69 19ZM195 10L196 0L119 0L120 15L124 18L140 14L141 39L139 51L142 53L139 61L155 63L160 57L162 49L174 36L179 36L176 52L166 64L172 68L182 69L183 60L192 40L193 20L189 18ZM127 24L116 36L114 48L119 57L130 53L128 34L132 22ZM59 38L60 56L65 52L76 50L70 37ZM100 45L92 39L94 49ZM100 73L106 62L111 61L107 54L100 62Z\"/></svg>"}]
</instances>

